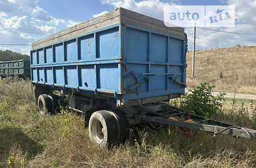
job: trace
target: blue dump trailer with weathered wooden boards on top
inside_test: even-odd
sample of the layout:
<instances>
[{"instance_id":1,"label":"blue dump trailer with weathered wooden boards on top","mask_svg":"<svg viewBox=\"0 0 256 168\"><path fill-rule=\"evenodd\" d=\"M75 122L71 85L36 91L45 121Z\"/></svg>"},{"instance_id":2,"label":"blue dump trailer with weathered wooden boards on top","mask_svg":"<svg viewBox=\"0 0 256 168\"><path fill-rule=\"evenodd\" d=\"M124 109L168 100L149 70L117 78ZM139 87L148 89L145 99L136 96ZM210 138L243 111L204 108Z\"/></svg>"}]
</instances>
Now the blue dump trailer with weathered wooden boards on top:
<instances>
[{"instance_id":1,"label":"blue dump trailer with weathered wooden boards on top","mask_svg":"<svg viewBox=\"0 0 256 168\"><path fill-rule=\"evenodd\" d=\"M38 110L55 110L56 91L69 95L69 108L84 113L102 145L125 141L131 126L170 124L160 102L185 93L186 52L184 28L115 9L32 44Z\"/></svg>"}]
</instances>

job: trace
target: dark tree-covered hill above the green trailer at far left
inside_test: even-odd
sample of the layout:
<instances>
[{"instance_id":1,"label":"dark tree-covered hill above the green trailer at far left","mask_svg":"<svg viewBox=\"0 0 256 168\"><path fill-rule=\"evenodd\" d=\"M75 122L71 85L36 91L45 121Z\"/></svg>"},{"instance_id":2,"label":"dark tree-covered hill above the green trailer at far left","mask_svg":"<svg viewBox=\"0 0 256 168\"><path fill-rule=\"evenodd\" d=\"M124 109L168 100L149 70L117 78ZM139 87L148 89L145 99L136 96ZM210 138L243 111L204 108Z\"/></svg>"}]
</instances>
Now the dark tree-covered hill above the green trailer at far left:
<instances>
[{"instance_id":1,"label":"dark tree-covered hill above the green trailer at far left","mask_svg":"<svg viewBox=\"0 0 256 168\"><path fill-rule=\"evenodd\" d=\"M0 50L0 61L5 61L5 60L22 60L26 59L29 60L30 56L26 54L20 54L17 52L12 52L11 50Z\"/></svg>"}]
</instances>

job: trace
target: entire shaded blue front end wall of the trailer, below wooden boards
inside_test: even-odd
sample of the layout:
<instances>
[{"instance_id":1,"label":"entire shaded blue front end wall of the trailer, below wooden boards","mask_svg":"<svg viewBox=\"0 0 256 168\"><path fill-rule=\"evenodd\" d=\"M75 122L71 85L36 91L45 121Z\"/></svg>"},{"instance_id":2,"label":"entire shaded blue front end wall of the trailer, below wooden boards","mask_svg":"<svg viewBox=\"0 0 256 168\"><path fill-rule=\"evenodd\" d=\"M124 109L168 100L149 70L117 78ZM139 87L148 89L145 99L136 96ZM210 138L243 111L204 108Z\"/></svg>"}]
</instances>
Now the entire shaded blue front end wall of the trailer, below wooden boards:
<instances>
[{"instance_id":1,"label":"entire shaded blue front end wall of the trailer, below wooden boards","mask_svg":"<svg viewBox=\"0 0 256 168\"><path fill-rule=\"evenodd\" d=\"M122 28L124 103L185 92L184 39L134 26Z\"/></svg>"}]
</instances>

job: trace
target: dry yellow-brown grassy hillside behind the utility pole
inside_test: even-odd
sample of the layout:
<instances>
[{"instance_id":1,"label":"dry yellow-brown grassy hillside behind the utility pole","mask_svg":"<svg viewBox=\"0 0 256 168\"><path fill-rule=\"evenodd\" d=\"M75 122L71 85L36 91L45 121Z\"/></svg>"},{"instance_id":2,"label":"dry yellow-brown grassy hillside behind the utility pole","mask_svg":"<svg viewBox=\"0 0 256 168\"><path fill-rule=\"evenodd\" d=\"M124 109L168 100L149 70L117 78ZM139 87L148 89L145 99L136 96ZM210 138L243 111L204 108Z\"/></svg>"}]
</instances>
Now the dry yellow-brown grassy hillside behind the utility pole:
<instances>
[{"instance_id":1,"label":"dry yellow-brown grassy hillside behind the utility pole","mask_svg":"<svg viewBox=\"0 0 256 168\"><path fill-rule=\"evenodd\" d=\"M189 88L202 81L216 85L217 91L256 94L256 46L234 46L195 52L195 77L191 79L192 54L187 53Z\"/></svg>"}]
</instances>

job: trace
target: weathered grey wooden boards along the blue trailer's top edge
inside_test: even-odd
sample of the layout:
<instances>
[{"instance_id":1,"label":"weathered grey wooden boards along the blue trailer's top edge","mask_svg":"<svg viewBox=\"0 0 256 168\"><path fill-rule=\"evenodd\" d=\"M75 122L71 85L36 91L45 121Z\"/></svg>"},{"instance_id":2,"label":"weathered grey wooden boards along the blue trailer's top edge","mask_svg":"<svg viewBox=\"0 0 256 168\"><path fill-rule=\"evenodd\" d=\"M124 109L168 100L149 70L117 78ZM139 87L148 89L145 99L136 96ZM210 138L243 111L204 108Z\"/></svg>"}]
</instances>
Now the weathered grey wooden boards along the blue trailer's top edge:
<instances>
[{"instance_id":1,"label":"weathered grey wooden boards along the blue trailer's top edge","mask_svg":"<svg viewBox=\"0 0 256 168\"><path fill-rule=\"evenodd\" d=\"M184 28L166 27L164 22L159 19L155 19L120 7L114 11L110 11L104 15L90 19L87 22L77 24L71 28L67 28L66 30L43 38L42 40L33 42L32 50L42 48L44 46L51 46L57 42L75 38L77 36L81 36L82 34L107 28L108 26L113 26L115 24L122 24L123 26L135 26L146 30L152 30L154 32L170 34L179 38L185 38Z\"/></svg>"}]
</instances>

